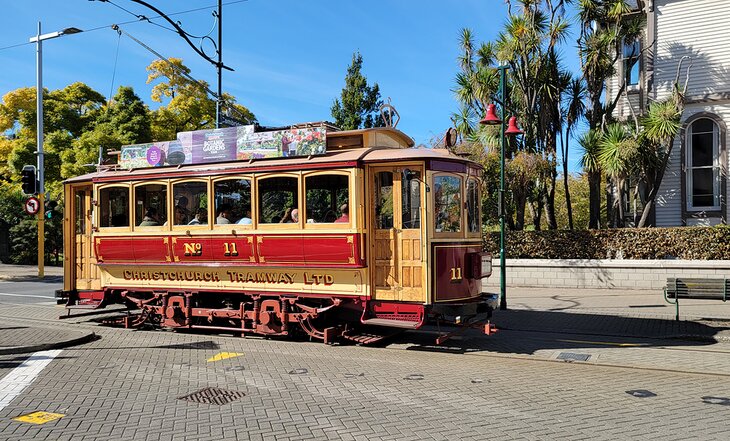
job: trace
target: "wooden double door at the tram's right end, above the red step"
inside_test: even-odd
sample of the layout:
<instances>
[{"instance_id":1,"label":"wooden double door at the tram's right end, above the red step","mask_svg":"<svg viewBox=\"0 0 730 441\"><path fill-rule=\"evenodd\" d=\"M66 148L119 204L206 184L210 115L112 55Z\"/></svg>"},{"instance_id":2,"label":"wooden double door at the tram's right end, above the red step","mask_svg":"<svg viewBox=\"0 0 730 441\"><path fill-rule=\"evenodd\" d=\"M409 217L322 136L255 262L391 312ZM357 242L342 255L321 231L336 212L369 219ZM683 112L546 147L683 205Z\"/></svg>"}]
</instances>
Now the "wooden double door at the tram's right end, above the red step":
<instances>
[{"instance_id":1,"label":"wooden double door at the tram's right end, above the red step","mask_svg":"<svg viewBox=\"0 0 730 441\"><path fill-rule=\"evenodd\" d=\"M370 171L373 299L426 300L422 176L418 167L377 167Z\"/></svg>"}]
</instances>

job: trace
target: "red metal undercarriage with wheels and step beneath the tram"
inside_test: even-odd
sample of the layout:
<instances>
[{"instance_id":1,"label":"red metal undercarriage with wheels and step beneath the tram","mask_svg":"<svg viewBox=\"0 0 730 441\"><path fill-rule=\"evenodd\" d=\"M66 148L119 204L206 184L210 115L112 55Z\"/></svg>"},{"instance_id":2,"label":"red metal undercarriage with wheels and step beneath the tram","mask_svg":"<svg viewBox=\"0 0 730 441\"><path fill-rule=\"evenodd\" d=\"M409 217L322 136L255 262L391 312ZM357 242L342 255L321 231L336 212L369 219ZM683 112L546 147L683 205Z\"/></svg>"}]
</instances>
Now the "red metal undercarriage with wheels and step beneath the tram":
<instances>
[{"instance_id":1,"label":"red metal undercarriage with wheels and step beneath the tram","mask_svg":"<svg viewBox=\"0 0 730 441\"><path fill-rule=\"evenodd\" d=\"M80 304L69 298L69 305ZM98 297L98 296L97 296ZM372 302L360 297L271 293L106 290L100 305L126 303L130 311L103 320L110 326L144 326L264 336L304 335L331 344L371 344L420 328L423 305Z\"/></svg>"}]
</instances>

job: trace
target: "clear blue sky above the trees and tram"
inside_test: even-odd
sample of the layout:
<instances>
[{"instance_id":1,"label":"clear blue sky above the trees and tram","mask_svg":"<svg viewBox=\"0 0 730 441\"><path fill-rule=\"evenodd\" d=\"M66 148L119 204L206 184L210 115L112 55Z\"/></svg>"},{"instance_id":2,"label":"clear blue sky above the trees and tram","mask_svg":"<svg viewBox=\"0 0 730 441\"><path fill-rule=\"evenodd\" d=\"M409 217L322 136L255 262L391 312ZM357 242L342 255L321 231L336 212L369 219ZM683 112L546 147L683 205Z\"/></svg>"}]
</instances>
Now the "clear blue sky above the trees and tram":
<instances>
[{"instance_id":1,"label":"clear blue sky above the trees and tram","mask_svg":"<svg viewBox=\"0 0 730 441\"><path fill-rule=\"evenodd\" d=\"M216 0L146 1L188 33L213 30L211 37L217 38ZM155 14L131 0L112 2L4 0L0 95L35 86L36 50L28 39L36 35L39 21L42 33L68 27L84 31L43 42L47 89L81 81L109 97L120 85L132 86L154 108L145 68L157 57L126 35L120 38L111 29L116 23L161 55L182 58L195 78L215 90L214 66L179 35L158 26L169 24L161 18L153 20L158 25L138 21L123 9ZM199 10L177 14L192 9ZM450 115L458 109L452 89L460 30L470 28L477 42L493 40L507 19L507 7L504 0L223 0L222 16L223 62L234 69L224 71L223 91L262 125L331 121L332 102L344 86L353 52L359 51L368 82L377 83L383 100L400 114L398 129L416 144L429 144L451 125ZM214 58L212 46L205 47ZM575 52L567 48L564 53L573 69Z\"/></svg>"}]
</instances>

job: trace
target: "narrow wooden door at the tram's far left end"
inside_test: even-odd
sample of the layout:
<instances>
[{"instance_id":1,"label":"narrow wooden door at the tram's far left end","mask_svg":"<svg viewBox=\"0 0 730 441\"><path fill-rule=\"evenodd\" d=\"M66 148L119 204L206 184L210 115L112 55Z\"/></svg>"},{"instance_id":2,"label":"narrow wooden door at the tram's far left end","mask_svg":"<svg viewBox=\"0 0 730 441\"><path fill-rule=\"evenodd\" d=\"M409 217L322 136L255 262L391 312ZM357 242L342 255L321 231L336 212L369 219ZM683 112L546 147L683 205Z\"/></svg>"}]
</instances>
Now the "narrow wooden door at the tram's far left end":
<instances>
[{"instance_id":1,"label":"narrow wooden door at the tram's far left end","mask_svg":"<svg viewBox=\"0 0 730 441\"><path fill-rule=\"evenodd\" d=\"M90 185L73 188L70 232L73 235L74 255L69 257L74 263L74 279L78 290L99 289L101 287L91 238L91 199L92 187Z\"/></svg>"}]
</instances>

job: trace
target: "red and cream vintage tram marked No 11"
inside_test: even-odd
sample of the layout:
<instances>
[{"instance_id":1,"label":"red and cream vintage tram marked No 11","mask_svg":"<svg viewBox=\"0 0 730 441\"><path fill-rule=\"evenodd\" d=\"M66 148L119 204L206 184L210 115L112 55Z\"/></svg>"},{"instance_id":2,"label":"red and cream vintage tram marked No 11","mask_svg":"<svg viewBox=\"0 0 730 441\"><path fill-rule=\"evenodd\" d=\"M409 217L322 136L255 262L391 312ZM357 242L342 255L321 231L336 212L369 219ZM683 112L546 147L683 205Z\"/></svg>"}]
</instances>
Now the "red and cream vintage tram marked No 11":
<instances>
[{"instance_id":1,"label":"red and cream vintage tram marked No 11","mask_svg":"<svg viewBox=\"0 0 730 441\"><path fill-rule=\"evenodd\" d=\"M122 148L65 182L69 310L126 304L127 327L326 343L492 329L479 164L393 127L230 129Z\"/></svg>"}]
</instances>

